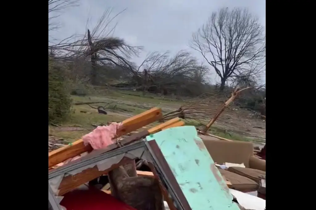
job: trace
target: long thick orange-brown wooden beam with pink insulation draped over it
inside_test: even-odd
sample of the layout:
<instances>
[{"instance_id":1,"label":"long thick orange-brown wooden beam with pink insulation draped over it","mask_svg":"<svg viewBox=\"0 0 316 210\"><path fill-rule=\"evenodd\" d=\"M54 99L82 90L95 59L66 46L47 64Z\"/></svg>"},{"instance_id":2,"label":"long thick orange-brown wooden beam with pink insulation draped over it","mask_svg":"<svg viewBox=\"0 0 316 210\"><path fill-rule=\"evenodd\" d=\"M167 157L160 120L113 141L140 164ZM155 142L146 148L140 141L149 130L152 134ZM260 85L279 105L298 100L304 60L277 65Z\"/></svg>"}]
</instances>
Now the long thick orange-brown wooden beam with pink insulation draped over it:
<instances>
[{"instance_id":1,"label":"long thick orange-brown wooden beam with pink insulation draped over it","mask_svg":"<svg viewBox=\"0 0 316 210\"><path fill-rule=\"evenodd\" d=\"M141 114L133 116L129 119L124 120L122 127L117 131L117 135L122 136L131 131L142 128L152 122L155 122L162 118L162 112L160 108L152 108ZM64 162L65 160L80 155L83 152L92 151L90 145L84 145L82 139L72 143L72 145L63 146L57 150L53 150L48 153L48 168L51 168L58 163Z\"/></svg>"}]
</instances>

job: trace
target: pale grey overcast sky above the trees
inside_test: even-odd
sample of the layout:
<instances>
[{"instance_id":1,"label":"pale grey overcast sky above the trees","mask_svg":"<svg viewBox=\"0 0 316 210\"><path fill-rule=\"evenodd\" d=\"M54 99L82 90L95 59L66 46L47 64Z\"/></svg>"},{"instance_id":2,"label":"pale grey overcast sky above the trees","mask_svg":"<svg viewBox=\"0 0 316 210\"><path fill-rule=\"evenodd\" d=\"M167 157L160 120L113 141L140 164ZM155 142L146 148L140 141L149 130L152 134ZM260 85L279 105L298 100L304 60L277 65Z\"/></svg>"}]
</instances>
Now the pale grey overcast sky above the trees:
<instances>
[{"instance_id":1,"label":"pale grey overcast sky above the trees","mask_svg":"<svg viewBox=\"0 0 316 210\"><path fill-rule=\"evenodd\" d=\"M265 26L264 0L80 0L79 7L61 14L58 21L63 27L52 35L61 39L74 33L84 34L88 19L88 28L92 29L106 9L112 8L112 16L126 9L112 23L118 24L114 36L124 38L130 45L144 46L145 51L134 62L140 64L148 52L167 50L189 50L202 60L198 52L188 47L192 32L222 7L247 7Z\"/></svg>"}]
</instances>

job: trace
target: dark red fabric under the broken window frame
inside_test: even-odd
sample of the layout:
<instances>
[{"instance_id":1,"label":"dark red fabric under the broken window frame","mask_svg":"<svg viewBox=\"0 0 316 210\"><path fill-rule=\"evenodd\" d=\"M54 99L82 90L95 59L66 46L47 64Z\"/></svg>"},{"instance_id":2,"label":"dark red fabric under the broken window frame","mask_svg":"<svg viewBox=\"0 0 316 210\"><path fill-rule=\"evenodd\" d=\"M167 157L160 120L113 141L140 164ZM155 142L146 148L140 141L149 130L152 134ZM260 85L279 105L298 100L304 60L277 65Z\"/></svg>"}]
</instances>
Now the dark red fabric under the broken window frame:
<instances>
[{"instance_id":1,"label":"dark red fabric under the broken window frame","mask_svg":"<svg viewBox=\"0 0 316 210\"><path fill-rule=\"evenodd\" d=\"M100 190L74 190L64 195L60 205L67 210L136 210Z\"/></svg>"}]
</instances>

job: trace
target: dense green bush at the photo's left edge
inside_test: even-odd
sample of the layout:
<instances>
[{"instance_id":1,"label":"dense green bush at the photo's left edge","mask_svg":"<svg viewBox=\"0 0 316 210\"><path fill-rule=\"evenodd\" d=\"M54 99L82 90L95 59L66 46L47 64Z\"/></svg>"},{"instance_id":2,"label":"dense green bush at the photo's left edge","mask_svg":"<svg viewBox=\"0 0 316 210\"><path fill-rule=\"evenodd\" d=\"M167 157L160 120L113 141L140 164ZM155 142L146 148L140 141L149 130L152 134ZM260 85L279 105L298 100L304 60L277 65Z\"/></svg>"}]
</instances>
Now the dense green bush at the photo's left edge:
<instances>
[{"instance_id":1,"label":"dense green bush at the photo's left edge","mask_svg":"<svg viewBox=\"0 0 316 210\"><path fill-rule=\"evenodd\" d=\"M60 123L71 111L72 100L66 88L62 67L49 58L48 63L48 122Z\"/></svg>"}]
</instances>

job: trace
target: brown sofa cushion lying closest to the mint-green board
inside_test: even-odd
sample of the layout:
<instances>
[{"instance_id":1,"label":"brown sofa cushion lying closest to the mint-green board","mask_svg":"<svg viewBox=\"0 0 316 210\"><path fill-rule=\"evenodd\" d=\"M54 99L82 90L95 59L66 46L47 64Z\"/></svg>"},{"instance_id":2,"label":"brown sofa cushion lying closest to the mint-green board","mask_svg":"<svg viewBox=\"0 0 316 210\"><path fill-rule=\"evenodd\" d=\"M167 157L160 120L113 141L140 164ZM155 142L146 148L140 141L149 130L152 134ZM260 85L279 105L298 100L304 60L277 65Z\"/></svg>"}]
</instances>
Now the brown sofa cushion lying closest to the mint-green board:
<instances>
[{"instance_id":1,"label":"brown sofa cushion lying closest to the mint-green board","mask_svg":"<svg viewBox=\"0 0 316 210\"><path fill-rule=\"evenodd\" d=\"M225 179L232 184L230 188L234 190L239 190L242 192L251 192L258 190L259 188L259 184L257 184L255 181L247 177L240 176L237 173L232 173L230 171L223 169L218 170L222 174L222 176L225 177Z\"/></svg>"}]
</instances>

